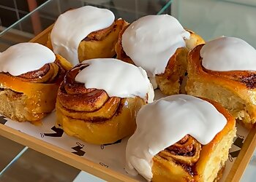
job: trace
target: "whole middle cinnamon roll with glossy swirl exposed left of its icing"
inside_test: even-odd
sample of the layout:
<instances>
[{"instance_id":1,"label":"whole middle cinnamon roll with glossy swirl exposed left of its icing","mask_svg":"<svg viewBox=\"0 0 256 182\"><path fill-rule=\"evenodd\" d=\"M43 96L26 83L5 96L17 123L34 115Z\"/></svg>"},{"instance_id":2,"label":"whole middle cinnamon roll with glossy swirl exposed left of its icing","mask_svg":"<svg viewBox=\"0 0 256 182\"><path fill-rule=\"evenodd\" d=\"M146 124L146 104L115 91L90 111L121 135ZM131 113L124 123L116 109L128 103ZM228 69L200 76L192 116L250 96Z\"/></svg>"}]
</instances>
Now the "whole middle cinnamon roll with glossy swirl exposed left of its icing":
<instances>
[{"instance_id":1,"label":"whole middle cinnamon roll with glossy swirl exposed left of its icing","mask_svg":"<svg viewBox=\"0 0 256 182\"><path fill-rule=\"evenodd\" d=\"M153 98L142 68L110 58L87 60L59 88L56 127L88 143L113 143L132 135L138 110Z\"/></svg>"}]
</instances>

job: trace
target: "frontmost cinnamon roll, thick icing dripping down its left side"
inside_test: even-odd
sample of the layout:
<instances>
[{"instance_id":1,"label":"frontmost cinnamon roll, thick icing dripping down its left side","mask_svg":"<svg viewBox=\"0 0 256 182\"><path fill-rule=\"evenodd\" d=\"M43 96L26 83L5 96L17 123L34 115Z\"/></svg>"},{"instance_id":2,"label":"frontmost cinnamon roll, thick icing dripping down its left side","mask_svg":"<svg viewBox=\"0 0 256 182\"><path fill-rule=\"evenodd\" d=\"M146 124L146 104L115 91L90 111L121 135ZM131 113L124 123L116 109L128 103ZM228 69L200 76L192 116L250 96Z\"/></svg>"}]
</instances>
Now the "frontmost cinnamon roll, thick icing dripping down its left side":
<instances>
[{"instance_id":1,"label":"frontmost cinnamon roll, thick icing dripping down its left side","mask_svg":"<svg viewBox=\"0 0 256 182\"><path fill-rule=\"evenodd\" d=\"M171 95L143 106L126 149L127 173L148 181L217 181L236 121L211 100Z\"/></svg>"}]
</instances>

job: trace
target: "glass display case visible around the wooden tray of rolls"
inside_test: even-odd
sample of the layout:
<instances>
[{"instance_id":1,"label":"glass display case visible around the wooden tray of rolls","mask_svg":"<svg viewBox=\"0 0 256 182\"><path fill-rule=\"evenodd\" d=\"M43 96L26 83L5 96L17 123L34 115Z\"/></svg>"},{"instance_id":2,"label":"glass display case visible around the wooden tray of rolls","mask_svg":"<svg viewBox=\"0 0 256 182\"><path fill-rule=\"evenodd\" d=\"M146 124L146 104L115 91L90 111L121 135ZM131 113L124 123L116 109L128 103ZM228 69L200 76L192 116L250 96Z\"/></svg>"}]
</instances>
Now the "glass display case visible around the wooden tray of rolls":
<instances>
[{"instance_id":1,"label":"glass display case visible around the wooden tray of rolls","mask_svg":"<svg viewBox=\"0 0 256 182\"><path fill-rule=\"evenodd\" d=\"M206 41L218 36L236 36L256 47L254 1L48 0L12 25L1 27L0 51L13 44L29 41L52 25L61 13L85 5L110 9L117 18L123 17L128 22L145 15L169 14L176 17L184 28L195 31ZM88 173L80 173L77 168L59 160L1 137L1 133L0 143L0 181L102 181ZM241 181L254 181L255 170L256 154Z\"/></svg>"}]
</instances>

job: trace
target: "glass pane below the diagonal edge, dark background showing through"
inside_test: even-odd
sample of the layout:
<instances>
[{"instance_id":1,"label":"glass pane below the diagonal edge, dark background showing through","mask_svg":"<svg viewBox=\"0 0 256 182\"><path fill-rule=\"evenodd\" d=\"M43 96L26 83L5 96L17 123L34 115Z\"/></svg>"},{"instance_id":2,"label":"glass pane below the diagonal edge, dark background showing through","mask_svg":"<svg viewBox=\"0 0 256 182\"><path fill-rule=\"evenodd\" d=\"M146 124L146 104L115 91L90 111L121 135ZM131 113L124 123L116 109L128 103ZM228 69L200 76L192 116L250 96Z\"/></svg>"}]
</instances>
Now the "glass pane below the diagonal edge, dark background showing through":
<instances>
[{"instance_id":1,"label":"glass pane below the diagonal edge, dark background showing through","mask_svg":"<svg viewBox=\"0 0 256 182\"><path fill-rule=\"evenodd\" d=\"M170 14L172 0L48 0L25 17L3 28L0 32L0 51L13 44L29 41L42 30L53 24L61 13L85 5L110 9L116 16L128 22L145 15ZM22 28L20 28L22 27Z\"/></svg>"}]
</instances>

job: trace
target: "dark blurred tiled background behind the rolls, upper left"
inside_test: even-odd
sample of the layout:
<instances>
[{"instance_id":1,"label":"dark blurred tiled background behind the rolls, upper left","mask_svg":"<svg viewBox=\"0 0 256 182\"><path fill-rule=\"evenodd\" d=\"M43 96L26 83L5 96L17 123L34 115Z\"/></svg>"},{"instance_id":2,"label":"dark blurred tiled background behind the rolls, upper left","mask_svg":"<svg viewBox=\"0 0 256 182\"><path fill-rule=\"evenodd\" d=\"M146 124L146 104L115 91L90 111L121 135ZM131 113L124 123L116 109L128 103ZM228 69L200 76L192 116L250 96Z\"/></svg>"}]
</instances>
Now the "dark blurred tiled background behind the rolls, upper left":
<instances>
[{"instance_id":1,"label":"dark blurred tiled background behind the rolls, upper left","mask_svg":"<svg viewBox=\"0 0 256 182\"><path fill-rule=\"evenodd\" d=\"M157 14L168 0L0 0L0 51L12 44L28 41L53 24L67 9L85 5L110 9L116 18L128 22ZM40 7L41 6L41 7ZM34 12L34 9L39 9ZM170 7L162 13L170 14ZM11 29L9 29L11 28Z\"/></svg>"}]
</instances>

